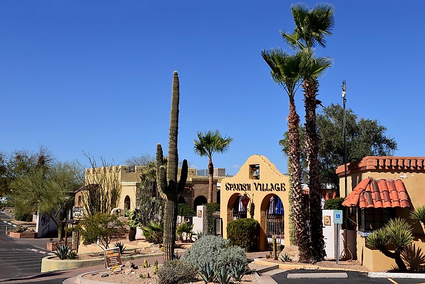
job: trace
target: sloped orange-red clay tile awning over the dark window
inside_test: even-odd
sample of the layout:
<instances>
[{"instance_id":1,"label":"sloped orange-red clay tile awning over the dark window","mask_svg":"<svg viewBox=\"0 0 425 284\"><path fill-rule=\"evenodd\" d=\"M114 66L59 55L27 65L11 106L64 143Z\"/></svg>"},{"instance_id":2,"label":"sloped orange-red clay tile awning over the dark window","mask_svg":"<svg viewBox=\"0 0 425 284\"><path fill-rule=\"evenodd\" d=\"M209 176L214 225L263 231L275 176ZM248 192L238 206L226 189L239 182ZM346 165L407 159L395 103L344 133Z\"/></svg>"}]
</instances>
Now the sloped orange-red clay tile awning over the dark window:
<instances>
[{"instance_id":1,"label":"sloped orange-red clay tile awning over the dark window","mask_svg":"<svg viewBox=\"0 0 425 284\"><path fill-rule=\"evenodd\" d=\"M406 188L400 180L381 179L370 177L362 180L353 191L344 199L344 206L358 206L364 208L410 207Z\"/></svg>"}]
</instances>

